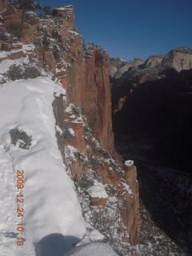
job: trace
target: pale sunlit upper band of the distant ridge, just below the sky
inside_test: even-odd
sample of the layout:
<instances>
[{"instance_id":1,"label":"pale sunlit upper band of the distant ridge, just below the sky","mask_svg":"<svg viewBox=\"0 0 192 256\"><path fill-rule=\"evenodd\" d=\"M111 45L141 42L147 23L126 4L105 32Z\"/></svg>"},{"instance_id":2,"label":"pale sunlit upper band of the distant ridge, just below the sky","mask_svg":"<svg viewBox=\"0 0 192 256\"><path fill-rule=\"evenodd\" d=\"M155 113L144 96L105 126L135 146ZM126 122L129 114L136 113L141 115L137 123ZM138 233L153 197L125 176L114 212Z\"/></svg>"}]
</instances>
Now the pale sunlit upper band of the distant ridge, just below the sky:
<instances>
[{"instance_id":1,"label":"pale sunlit upper band of the distant ridge, just below the sky","mask_svg":"<svg viewBox=\"0 0 192 256\"><path fill-rule=\"evenodd\" d=\"M120 58L110 58L110 78L115 80L122 78L122 75L123 79L130 76L142 78L142 75L150 78L171 68L178 72L192 69L192 50L182 46L170 50L168 54L150 56L146 61L135 58L126 62Z\"/></svg>"}]
</instances>

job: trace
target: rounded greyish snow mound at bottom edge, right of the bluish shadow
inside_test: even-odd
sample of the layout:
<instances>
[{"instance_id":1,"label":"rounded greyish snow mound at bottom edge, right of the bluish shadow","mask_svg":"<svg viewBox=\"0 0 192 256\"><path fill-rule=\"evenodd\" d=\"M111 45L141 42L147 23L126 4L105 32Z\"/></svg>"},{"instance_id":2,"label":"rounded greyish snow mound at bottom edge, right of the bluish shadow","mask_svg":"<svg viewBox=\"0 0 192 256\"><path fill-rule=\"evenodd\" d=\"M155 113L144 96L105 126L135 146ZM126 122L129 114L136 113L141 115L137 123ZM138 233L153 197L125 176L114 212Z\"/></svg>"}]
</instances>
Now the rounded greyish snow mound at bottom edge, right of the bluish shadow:
<instances>
[{"instance_id":1,"label":"rounded greyish snow mound at bottom edge, right of the bluish shadow","mask_svg":"<svg viewBox=\"0 0 192 256\"><path fill-rule=\"evenodd\" d=\"M75 247L65 256L118 256L114 250L102 242L90 242L82 246Z\"/></svg>"}]
</instances>

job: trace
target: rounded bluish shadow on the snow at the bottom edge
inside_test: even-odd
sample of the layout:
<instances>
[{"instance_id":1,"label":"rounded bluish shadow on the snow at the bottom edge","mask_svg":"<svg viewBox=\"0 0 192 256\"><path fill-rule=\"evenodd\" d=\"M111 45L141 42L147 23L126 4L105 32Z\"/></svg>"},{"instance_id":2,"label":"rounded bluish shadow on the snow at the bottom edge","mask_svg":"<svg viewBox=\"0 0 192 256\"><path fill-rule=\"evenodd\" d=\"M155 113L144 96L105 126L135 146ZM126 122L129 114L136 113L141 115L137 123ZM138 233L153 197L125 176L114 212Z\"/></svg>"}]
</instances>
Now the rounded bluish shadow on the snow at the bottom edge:
<instances>
[{"instance_id":1,"label":"rounded bluish shadow on the snow at the bottom edge","mask_svg":"<svg viewBox=\"0 0 192 256\"><path fill-rule=\"evenodd\" d=\"M63 256L79 239L62 234L48 234L35 244L36 256Z\"/></svg>"}]
</instances>

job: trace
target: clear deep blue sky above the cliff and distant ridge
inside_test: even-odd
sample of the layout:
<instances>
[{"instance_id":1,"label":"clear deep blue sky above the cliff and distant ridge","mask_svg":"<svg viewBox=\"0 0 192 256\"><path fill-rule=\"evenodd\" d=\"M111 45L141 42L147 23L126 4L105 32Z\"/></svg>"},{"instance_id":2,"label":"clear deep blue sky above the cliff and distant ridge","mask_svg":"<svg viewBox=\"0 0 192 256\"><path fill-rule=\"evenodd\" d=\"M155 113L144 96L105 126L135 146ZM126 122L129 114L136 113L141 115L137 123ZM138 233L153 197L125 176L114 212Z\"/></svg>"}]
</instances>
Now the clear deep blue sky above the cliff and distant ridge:
<instances>
[{"instance_id":1,"label":"clear deep blue sky above the cliff and distant ridge","mask_svg":"<svg viewBox=\"0 0 192 256\"><path fill-rule=\"evenodd\" d=\"M112 58L146 59L179 46L192 48L192 0L37 0L75 10L82 38Z\"/></svg>"}]
</instances>

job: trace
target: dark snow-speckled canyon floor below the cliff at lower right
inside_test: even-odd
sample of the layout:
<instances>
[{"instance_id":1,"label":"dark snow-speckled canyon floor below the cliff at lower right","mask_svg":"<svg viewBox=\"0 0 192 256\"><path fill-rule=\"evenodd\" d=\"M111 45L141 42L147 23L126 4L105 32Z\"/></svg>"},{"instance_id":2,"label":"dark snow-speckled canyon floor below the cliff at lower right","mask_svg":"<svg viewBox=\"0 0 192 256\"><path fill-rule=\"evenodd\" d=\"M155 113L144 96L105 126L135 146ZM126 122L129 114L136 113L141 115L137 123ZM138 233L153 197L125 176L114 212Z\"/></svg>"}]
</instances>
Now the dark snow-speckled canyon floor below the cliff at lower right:
<instances>
[{"instance_id":1,"label":"dark snow-speckled canyon floor below the cliff at lower right","mask_svg":"<svg viewBox=\"0 0 192 256\"><path fill-rule=\"evenodd\" d=\"M192 176L150 160L145 134L115 136L116 150L138 168L141 244L151 255L192 255Z\"/></svg>"}]
</instances>

